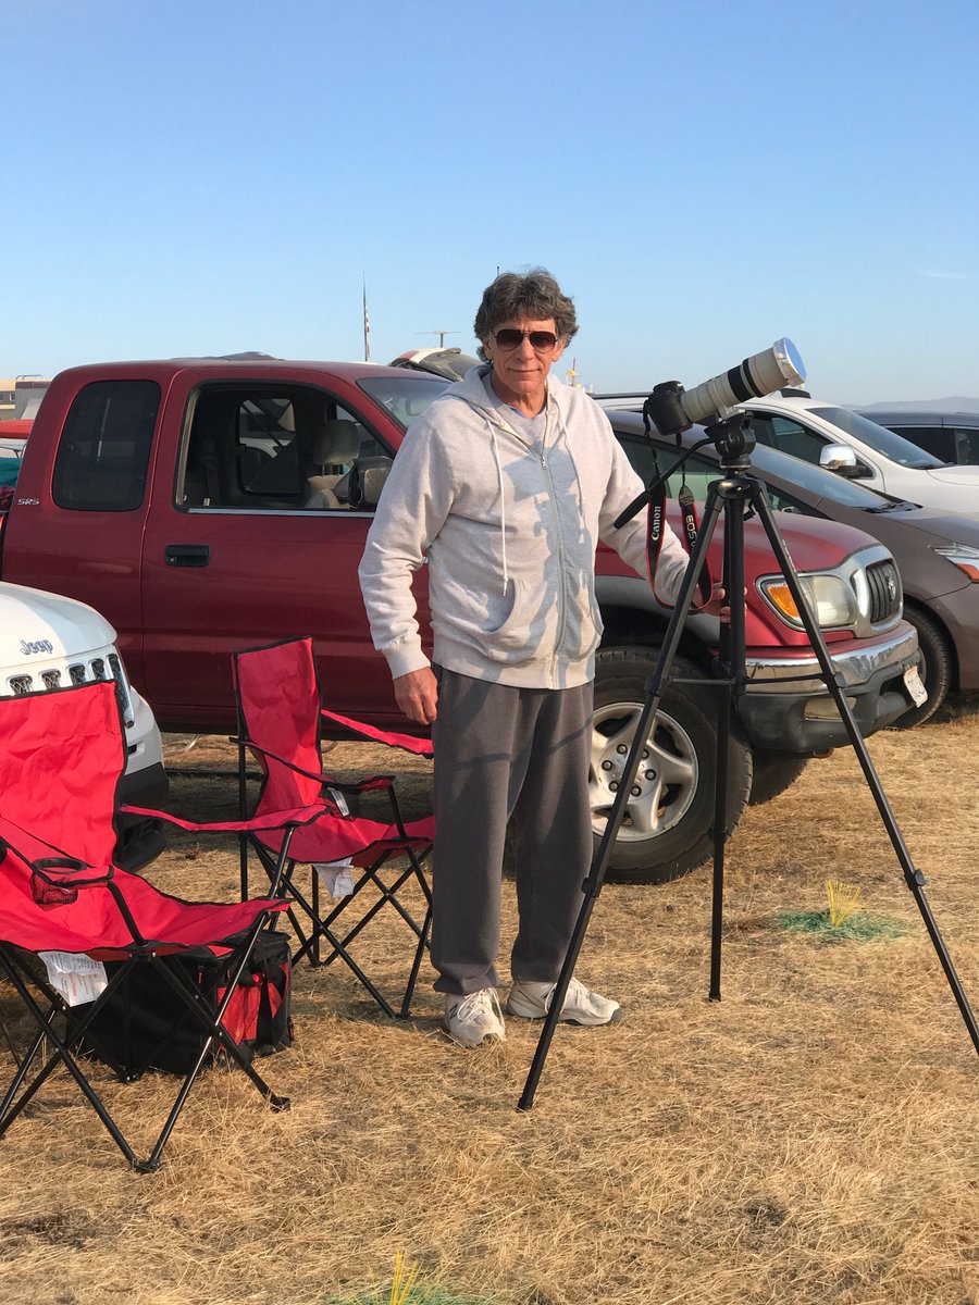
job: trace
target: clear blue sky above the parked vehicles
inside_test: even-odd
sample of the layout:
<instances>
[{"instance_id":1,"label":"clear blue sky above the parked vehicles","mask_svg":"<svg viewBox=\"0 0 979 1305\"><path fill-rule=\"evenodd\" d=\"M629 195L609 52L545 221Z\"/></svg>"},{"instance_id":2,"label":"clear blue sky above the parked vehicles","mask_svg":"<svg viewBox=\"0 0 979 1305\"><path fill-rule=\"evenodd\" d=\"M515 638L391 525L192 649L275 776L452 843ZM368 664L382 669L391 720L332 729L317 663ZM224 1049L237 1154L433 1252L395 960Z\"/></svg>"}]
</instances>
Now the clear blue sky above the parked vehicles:
<instances>
[{"instance_id":1,"label":"clear blue sky above the parked vehicles","mask_svg":"<svg viewBox=\"0 0 979 1305\"><path fill-rule=\"evenodd\" d=\"M550 268L598 390L791 337L979 395L976 0L0 0L0 375L475 348Z\"/></svg>"}]
</instances>

